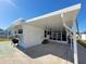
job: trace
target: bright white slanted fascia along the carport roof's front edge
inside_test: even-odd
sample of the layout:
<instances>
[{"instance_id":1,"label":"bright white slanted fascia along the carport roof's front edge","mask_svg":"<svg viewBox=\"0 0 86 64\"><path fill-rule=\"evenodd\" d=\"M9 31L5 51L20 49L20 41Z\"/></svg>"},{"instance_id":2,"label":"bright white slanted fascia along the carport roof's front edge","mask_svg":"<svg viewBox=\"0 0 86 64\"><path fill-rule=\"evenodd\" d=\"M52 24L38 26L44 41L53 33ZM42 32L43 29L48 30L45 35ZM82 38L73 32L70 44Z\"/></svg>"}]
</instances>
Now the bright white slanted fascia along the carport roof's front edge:
<instances>
[{"instance_id":1,"label":"bright white slanted fascia along the carport roof's front edge","mask_svg":"<svg viewBox=\"0 0 86 64\"><path fill-rule=\"evenodd\" d=\"M39 20L39 18L45 18L45 17L48 17L48 16L52 16L52 15L56 15L56 14L61 14L61 13L65 13L65 12L69 12L69 11L78 10L78 9L81 9L81 5L82 5L82 3L78 3L78 4L74 4L74 5L54 11L54 12L50 12L50 13L47 13L47 14L27 20L26 23L29 23L29 22L33 22L33 21L36 21L36 20Z\"/></svg>"}]
</instances>

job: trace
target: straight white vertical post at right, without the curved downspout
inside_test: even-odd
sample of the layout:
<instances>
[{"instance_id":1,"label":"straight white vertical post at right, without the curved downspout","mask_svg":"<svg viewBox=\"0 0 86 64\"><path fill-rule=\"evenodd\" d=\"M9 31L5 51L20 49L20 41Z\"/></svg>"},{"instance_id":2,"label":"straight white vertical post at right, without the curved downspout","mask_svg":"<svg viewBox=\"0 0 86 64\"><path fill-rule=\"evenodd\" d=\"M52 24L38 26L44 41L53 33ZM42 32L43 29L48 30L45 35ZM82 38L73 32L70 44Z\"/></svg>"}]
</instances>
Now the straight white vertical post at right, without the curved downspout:
<instances>
[{"instance_id":1,"label":"straight white vertical post at right, without the curved downspout","mask_svg":"<svg viewBox=\"0 0 86 64\"><path fill-rule=\"evenodd\" d=\"M77 42L76 42L76 22L73 24L73 44L74 44L74 64L78 64Z\"/></svg>"}]
</instances>

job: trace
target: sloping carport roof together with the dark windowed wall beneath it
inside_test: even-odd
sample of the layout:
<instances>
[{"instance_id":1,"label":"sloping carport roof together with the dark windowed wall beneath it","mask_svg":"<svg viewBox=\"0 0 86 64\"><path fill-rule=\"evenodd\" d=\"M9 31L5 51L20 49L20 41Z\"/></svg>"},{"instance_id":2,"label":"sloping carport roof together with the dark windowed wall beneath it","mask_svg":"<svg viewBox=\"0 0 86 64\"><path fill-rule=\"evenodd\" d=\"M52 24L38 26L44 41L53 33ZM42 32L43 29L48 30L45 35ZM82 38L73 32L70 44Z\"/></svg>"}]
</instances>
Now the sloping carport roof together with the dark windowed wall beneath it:
<instances>
[{"instance_id":1,"label":"sloping carport roof together with the dark windowed wall beneath it","mask_svg":"<svg viewBox=\"0 0 86 64\"><path fill-rule=\"evenodd\" d=\"M76 22L76 16L81 8L79 5L81 4L76 4L39 17L27 20L26 25L41 28L44 30L44 39L47 38L50 41L67 43L69 39L72 41L72 28Z\"/></svg>"}]
</instances>

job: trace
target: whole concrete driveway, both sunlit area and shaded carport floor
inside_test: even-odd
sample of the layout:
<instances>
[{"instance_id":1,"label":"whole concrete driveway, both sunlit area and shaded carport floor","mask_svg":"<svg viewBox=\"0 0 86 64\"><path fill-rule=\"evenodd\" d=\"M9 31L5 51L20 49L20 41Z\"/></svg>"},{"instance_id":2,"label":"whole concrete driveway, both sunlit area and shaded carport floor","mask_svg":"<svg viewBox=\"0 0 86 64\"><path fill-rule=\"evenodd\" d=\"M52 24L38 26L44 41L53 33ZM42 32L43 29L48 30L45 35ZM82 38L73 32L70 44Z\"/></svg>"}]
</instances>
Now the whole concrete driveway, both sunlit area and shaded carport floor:
<instances>
[{"instance_id":1,"label":"whole concrete driveway, both sunlit area and shaded carport floor","mask_svg":"<svg viewBox=\"0 0 86 64\"><path fill-rule=\"evenodd\" d=\"M10 41L0 42L0 64L73 64L72 51L64 43L38 44L24 52Z\"/></svg>"}]
</instances>

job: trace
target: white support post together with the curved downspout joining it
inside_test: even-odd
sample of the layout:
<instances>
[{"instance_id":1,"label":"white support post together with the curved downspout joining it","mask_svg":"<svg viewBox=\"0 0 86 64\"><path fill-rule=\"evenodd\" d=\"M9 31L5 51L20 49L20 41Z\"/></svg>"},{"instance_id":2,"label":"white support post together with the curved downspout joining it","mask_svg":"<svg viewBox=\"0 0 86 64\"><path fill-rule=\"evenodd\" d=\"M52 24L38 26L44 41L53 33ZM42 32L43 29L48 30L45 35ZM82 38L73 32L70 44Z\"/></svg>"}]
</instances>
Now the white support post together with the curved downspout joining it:
<instances>
[{"instance_id":1,"label":"white support post together with the curved downspout joining it","mask_svg":"<svg viewBox=\"0 0 86 64\"><path fill-rule=\"evenodd\" d=\"M62 17L62 23L63 23L63 26L65 27L65 29L67 29L69 31L73 31L73 46L74 46L74 64L78 64L78 57L77 57L77 42L76 42L76 22L74 21L73 23L73 30L66 26L66 24L64 23L64 20L63 20L63 13L61 14L61 17ZM67 31L66 31L67 33Z\"/></svg>"}]
</instances>

